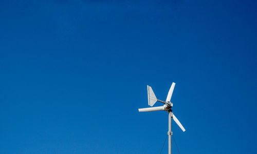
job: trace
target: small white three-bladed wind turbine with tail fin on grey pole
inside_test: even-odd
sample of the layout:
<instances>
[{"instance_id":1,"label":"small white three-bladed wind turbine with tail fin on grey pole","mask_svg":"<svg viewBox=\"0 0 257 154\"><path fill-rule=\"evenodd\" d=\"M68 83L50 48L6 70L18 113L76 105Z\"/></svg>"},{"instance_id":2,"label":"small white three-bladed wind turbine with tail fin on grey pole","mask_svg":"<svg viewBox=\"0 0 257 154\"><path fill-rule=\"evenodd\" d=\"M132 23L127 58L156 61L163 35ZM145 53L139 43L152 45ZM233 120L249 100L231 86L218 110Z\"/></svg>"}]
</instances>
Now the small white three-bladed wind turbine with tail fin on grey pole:
<instances>
[{"instance_id":1,"label":"small white three-bladed wind turbine with tail fin on grey pole","mask_svg":"<svg viewBox=\"0 0 257 154\"><path fill-rule=\"evenodd\" d=\"M169 136L169 154L171 154L171 136L172 136L172 131L171 131L171 119L177 123L177 125L182 129L182 131L186 131L186 129L181 125L181 123L178 121L178 119L175 117L173 114L171 108L173 106L173 103L171 102L171 96L173 93L175 87L175 83L173 82L171 85L171 88L169 90L169 93L167 95L166 101L160 101L157 100L154 91L152 87L149 85L147 86L147 91L148 91L148 105L153 106L157 101L163 103L163 106L158 106L158 107L148 107L148 108L139 108L139 112L151 112L151 111L167 111L169 113L169 131L168 131L168 136Z\"/></svg>"}]
</instances>

